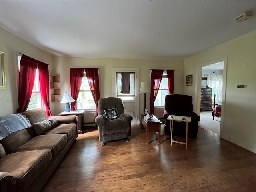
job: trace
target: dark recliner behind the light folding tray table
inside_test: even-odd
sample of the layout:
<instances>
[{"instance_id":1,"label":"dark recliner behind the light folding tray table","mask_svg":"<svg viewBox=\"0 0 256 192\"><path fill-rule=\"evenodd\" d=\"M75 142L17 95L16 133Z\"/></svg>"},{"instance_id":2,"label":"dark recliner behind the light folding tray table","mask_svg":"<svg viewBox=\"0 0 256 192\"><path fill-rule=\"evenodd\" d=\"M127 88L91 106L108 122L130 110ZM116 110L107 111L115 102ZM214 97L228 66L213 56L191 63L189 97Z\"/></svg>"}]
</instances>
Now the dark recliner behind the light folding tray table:
<instances>
[{"instance_id":1,"label":"dark recliner behind the light folding tray table","mask_svg":"<svg viewBox=\"0 0 256 192\"><path fill-rule=\"evenodd\" d=\"M166 134L170 135L170 121L167 120L169 115L189 116L191 117L191 122L188 123L188 137L197 138L200 116L193 112L192 96L180 94L166 95L164 109L164 119L166 123L164 130ZM185 137L186 123L174 121L172 133L173 136Z\"/></svg>"}]
</instances>

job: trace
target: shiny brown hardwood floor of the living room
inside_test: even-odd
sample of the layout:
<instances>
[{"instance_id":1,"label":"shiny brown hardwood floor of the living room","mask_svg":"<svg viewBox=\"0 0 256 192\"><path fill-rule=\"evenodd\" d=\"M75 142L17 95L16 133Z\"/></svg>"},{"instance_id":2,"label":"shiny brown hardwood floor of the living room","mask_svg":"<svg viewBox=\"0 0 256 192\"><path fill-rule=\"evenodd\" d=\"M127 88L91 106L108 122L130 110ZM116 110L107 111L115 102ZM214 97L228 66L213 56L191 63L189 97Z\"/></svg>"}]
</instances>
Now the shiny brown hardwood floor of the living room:
<instances>
[{"instance_id":1,"label":"shiny brown hardwood floor of the living room","mask_svg":"<svg viewBox=\"0 0 256 192\"><path fill-rule=\"evenodd\" d=\"M98 130L78 134L42 192L253 192L256 155L199 128L198 138L170 146L170 136L132 126L130 142L101 146Z\"/></svg>"}]
</instances>

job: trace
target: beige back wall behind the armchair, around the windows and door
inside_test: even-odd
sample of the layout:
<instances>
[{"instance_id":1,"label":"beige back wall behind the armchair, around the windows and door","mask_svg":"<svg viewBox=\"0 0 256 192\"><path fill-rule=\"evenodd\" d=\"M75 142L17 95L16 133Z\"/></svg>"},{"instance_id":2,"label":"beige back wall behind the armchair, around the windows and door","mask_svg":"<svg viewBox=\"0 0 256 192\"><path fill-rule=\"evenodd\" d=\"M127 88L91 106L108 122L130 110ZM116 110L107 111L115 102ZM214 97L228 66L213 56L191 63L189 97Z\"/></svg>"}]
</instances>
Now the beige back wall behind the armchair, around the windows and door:
<instances>
[{"instance_id":1,"label":"beige back wall behind the armchair, around the windows and door","mask_svg":"<svg viewBox=\"0 0 256 192\"><path fill-rule=\"evenodd\" d=\"M174 93L183 93L183 60L137 60L137 59L109 59L109 58L77 58L77 57L54 57L53 73L60 75L61 94L70 92L70 70L69 67L99 68L100 74L100 97L112 96L112 67L115 68L139 68L139 82L150 81L150 69L175 69L174 72ZM139 94L139 111L144 108L144 96ZM54 114L62 112L64 105L58 102L52 104ZM146 106L149 108L149 94L146 95ZM163 109L156 110L156 116L162 118ZM93 122L93 117L85 114Z\"/></svg>"}]
</instances>

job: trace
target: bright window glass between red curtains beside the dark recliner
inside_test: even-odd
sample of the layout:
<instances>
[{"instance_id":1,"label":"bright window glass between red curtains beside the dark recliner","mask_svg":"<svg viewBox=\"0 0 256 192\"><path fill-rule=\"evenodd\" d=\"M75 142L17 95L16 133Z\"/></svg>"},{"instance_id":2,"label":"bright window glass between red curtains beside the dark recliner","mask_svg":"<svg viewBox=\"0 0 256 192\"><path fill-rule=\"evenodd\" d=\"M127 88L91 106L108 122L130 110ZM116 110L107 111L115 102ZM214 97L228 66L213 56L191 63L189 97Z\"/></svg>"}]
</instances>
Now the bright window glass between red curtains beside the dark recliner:
<instances>
[{"instance_id":1,"label":"bright window glass between red curtains beside the dark recliner","mask_svg":"<svg viewBox=\"0 0 256 192\"><path fill-rule=\"evenodd\" d=\"M164 106L165 96L169 94L167 70L164 70L162 81L160 83L159 91L154 102L154 106Z\"/></svg>"}]
</instances>

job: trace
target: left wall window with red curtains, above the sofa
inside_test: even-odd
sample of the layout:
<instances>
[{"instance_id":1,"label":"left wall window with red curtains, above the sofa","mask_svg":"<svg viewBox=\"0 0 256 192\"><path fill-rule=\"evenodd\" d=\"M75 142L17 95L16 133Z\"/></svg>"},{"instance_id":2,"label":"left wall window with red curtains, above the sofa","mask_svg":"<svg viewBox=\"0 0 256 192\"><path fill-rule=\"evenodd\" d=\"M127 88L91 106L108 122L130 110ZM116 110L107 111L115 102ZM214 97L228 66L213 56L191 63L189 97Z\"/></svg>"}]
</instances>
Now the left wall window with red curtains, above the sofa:
<instances>
[{"instance_id":1,"label":"left wall window with red curtains, above the sofa","mask_svg":"<svg viewBox=\"0 0 256 192\"><path fill-rule=\"evenodd\" d=\"M18 56L18 103L17 112L23 112L33 108L44 108L42 102L46 98L46 114L51 116L49 107L49 72L48 65L26 55ZM42 69L43 68L43 69ZM39 70L41 75L39 75ZM40 86L39 76L43 78ZM44 84L47 85L44 85ZM47 89L47 90L46 90ZM42 102L41 102L42 100Z\"/></svg>"}]
</instances>

